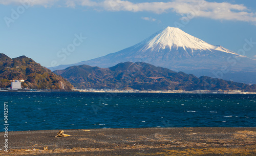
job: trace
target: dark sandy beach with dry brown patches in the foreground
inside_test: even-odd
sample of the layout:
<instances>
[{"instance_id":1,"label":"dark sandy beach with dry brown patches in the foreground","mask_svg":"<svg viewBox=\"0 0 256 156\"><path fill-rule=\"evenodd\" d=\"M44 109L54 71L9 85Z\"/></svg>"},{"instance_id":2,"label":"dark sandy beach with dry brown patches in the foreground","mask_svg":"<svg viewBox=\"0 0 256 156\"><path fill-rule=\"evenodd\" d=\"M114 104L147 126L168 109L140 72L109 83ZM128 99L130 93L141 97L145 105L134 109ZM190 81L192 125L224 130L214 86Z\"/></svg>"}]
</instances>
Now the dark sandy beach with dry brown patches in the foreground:
<instances>
[{"instance_id":1,"label":"dark sandy beach with dry brown patches in the foreground","mask_svg":"<svg viewBox=\"0 0 256 156\"><path fill-rule=\"evenodd\" d=\"M127 128L10 131L0 155L256 155L256 128ZM48 146L48 150L43 150Z\"/></svg>"}]
</instances>

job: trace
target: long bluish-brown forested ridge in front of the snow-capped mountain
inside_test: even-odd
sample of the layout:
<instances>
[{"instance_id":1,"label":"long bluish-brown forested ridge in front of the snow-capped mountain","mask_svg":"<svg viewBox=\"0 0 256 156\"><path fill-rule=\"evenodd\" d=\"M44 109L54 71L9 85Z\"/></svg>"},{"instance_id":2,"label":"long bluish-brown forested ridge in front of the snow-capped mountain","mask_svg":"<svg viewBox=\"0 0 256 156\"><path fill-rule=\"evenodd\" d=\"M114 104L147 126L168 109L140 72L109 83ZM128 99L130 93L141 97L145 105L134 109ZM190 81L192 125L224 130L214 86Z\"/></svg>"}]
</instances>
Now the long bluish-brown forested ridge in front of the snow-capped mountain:
<instances>
[{"instance_id":1,"label":"long bluish-brown forested ridge in front of the snow-capped mountain","mask_svg":"<svg viewBox=\"0 0 256 156\"><path fill-rule=\"evenodd\" d=\"M192 74L176 73L144 62L124 62L106 69L78 65L54 73L66 78L78 88L256 91L256 85L212 79L207 76L197 78Z\"/></svg>"}]
</instances>

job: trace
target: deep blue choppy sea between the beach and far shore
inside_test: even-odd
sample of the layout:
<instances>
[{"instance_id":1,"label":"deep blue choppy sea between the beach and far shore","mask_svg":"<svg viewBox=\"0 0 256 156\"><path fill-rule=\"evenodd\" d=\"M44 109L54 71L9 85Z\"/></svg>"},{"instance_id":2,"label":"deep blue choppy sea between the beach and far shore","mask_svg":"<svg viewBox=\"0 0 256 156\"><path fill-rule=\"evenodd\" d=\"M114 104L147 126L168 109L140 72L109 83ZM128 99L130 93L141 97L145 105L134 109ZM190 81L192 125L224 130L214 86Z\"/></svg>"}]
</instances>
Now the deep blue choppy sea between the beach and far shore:
<instances>
[{"instance_id":1,"label":"deep blue choppy sea between the beach and far shore","mask_svg":"<svg viewBox=\"0 0 256 156\"><path fill-rule=\"evenodd\" d=\"M9 131L256 127L256 95L1 92ZM2 130L3 131L3 130Z\"/></svg>"}]
</instances>

